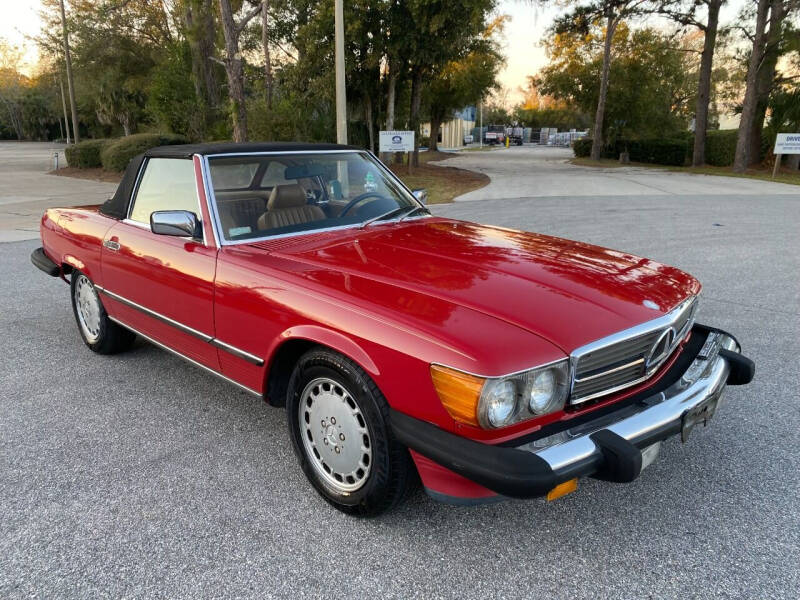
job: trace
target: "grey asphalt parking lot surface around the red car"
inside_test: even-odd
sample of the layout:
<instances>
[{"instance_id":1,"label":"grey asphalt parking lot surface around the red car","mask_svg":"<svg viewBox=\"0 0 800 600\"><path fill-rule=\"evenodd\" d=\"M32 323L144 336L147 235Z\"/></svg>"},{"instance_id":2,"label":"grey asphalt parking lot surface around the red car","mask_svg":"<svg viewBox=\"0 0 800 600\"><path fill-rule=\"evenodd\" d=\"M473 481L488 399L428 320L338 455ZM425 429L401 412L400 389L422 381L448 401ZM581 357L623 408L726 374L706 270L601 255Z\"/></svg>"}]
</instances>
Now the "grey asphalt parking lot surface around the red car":
<instances>
[{"instance_id":1,"label":"grey asphalt parking lot surface around the red car","mask_svg":"<svg viewBox=\"0 0 800 600\"><path fill-rule=\"evenodd\" d=\"M92 354L36 241L0 244L0 597L796 598L800 193L754 189L435 207L693 273L756 378L632 484L370 521L313 492L282 410L146 343Z\"/></svg>"}]
</instances>

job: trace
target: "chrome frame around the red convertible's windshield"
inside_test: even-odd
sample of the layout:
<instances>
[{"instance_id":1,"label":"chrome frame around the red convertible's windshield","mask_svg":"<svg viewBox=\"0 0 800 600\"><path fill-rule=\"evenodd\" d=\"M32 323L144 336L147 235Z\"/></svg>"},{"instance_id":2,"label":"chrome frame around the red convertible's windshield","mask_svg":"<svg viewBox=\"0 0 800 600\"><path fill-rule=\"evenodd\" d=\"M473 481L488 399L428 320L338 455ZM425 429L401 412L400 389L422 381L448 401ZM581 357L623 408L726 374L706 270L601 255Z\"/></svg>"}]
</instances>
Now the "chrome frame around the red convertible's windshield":
<instances>
[{"instance_id":1,"label":"chrome frame around the red convertible's windshield","mask_svg":"<svg viewBox=\"0 0 800 600\"><path fill-rule=\"evenodd\" d=\"M203 171L203 184L205 185L206 190L206 203L208 205L208 212L211 215L212 227L211 229L214 231L214 238L217 242L217 247L222 248L224 246L238 246L241 244L254 244L257 242L263 242L267 240L278 240L282 238L289 238L289 237L299 237L303 235L310 235L314 233L322 233L328 231L341 231L345 229L357 229L361 227L361 223L353 223L349 225L335 225L332 227L321 227L319 229L310 229L307 231L292 231L290 233L277 233L273 235L265 235L262 237L257 238L248 238L246 240L227 240L225 239L225 235L222 231L222 226L220 224L219 218L219 211L217 210L217 196L214 193L214 185L211 180L211 164L209 163L209 159L212 158L222 158L222 157L231 157L231 156L285 156L285 155L302 155L302 154L365 154L372 160L370 162L374 162L378 165L378 168L383 171L383 173L389 177L392 181L397 183L402 190L405 190L408 199L411 200L413 203L417 204L419 207L426 208L422 202L417 200L414 193L411 189L403 183L403 181L397 177L392 171L383 164L383 161L380 160L374 153L369 152L368 150L358 150L358 149L351 149L351 150L288 150L288 151L268 151L268 152L222 152L217 154L202 154L199 155L201 157L201 169ZM417 217L411 217L406 219L406 221L414 221L417 219L425 219L430 217L430 215L419 215ZM396 217L394 219L387 219L386 221L381 221L380 223L375 223L375 226L383 226L390 223L397 223L401 217Z\"/></svg>"}]
</instances>

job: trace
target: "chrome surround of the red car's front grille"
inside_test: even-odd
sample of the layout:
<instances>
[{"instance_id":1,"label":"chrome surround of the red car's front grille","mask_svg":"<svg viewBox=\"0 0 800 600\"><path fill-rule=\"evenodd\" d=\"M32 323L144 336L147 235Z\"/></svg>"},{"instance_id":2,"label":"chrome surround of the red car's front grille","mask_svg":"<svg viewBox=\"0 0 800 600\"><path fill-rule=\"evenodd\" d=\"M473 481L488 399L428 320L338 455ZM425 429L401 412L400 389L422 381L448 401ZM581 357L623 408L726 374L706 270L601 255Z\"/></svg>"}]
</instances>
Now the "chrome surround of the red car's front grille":
<instances>
[{"instance_id":1,"label":"chrome surround of the red car's front grille","mask_svg":"<svg viewBox=\"0 0 800 600\"><path fill-rule=\"evenodd\" d=\"M692 325L694 324L695 316L697 314L697 301L698 301L697 295L689 296L688 298L683 300L680 304L678 304L678 306L673 308L665 315L662 315L651 321L645 321L644 323L640 323L639 325L634 325L633 327L630 327L628 329L617 331L615 333L612 333L611 335L608 335L604 338L600 338L599 340L595 340L593 342L589 342L588 344L584 344L583 346L580 346L575 350L573 350L569 355L570 388L569 388L569 397L567 398L567 405L579 406L590 400L600 398L601 396L608 396L610 394L622 391L629 387L633 387L634 385L638 385L650 379L653 375L655 375L658 372L659 368L670 359L670 357L675 352L675 349L680 345L680 343L683 341L683 338L686 337L686 334L688 334L689 331L691 330ZM684 332L683 336L680 335L680 332L677 331L675 332L675 339L673 340L673 344L670 347L669 352L666 353L663 360L661 360L661 362L659 362L655 366L655 368L645 371L645 374L642 377L639 377L632 381L628 381L626 383L614 386L612 388L595 392L594 394L590 394L588 396L582 396L577 400L572 398L572 392L575 386L575 376L577 375L578 361L583 355L588 354L590 352L595 352L597 350L601 350L608 346L613 346L620 342L625 342L627 340L640 337L642 335L647 335L648 333L653 333L654 331L659 331L671 327L683 314L683 311L686 310L687 307L689 307L691 315L689 316L689 320L686 322L685 326L686 331ZM630 363L625 366L631 366L632 364L633 363ZM604 372L603 374L606 373Z\"/></svg>"}]
</instances>

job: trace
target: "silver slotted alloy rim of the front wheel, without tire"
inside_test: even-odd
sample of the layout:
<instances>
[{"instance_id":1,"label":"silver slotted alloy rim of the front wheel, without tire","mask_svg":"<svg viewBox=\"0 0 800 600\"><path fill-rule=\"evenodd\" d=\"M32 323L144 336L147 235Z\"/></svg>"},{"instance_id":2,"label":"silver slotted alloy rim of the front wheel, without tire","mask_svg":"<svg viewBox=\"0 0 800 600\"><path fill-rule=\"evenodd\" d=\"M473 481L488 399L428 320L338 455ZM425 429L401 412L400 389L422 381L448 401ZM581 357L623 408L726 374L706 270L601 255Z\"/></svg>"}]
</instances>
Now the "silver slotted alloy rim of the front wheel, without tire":
<instances>
[{"instance_id":1,"label":"silver slotted alloy rim of the front wheel, without tire","mask_svg":"<svg viewBox=\"0 0 800 600\"><path fill-rule=\"evenodd\" d=\"M350 392L333 379L314 379L303 390L297 416L317 474L337 492L360 489L372 466L372 440Z\"/></svg>"}]
</instances>

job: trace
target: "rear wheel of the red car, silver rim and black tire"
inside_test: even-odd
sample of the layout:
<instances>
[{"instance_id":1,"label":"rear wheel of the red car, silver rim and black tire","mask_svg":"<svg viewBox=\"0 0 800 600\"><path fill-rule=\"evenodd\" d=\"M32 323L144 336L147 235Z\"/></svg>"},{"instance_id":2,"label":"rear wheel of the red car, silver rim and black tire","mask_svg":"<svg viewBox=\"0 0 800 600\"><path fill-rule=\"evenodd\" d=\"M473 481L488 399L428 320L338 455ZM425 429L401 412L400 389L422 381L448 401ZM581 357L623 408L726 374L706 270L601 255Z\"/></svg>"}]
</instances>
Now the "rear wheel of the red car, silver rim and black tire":
<instances>
[{"instance_id":1,"label":"rear wheel of the red car, silver rim and black tire","mask_svg":"<svg viewBox=\"0 0 800 600\"><path fill-rule=\"evenodd\" d=\"M70 282L72 312L87 346L98 354L116 354L131 347L136 334L108 318L92 281L73 271Z\"/></svg>"}]
</instances>

